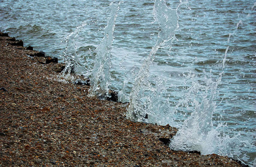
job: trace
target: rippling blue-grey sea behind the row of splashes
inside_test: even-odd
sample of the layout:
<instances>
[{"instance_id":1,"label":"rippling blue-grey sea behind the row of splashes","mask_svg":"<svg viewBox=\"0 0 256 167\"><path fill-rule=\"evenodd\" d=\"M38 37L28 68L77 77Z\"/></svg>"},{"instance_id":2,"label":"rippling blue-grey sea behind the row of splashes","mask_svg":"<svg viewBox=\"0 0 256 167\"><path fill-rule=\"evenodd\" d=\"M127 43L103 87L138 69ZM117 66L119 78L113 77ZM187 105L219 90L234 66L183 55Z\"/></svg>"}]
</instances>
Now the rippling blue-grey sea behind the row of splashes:
<instances>
[{"instance_id":1,"label":"rippling blue-grey sea behind the row of splashes","mask_svg":"<svg viewBox=\"0 0 256 167\"><path fill-rule=\"evenodd\" d=\"M153 18L154 1L123 2L110 49L109 89L120 91L122 101L130 101L132 86L158 41L160 29ZM144 97L141 99L142 121L186 129L186 125L193 124L191 118L200 115L200 108L212 104L211 110L207 110L212 112L208 115L212 118L207 125L210 130L202 132L198 128L191 133L192 139L199 137L192 134L199 133L208 142L200 146L198 143L187 145L194 145L191 149L209 146L209 151L231 155L252 165L256 154L255 3L249 0L167 2L168 7L178 8L176 39L152 54L154 58L146 76L148 82L143 86L149 89L143 91L145 96L140 95ZM61 58L68 50L86 65L78 71L91 73L96 48L102 42L110 18L110 3L2 0L0 29L49 56ZM79 29L79 26L82 27ZM232 149L225 151L219 149L221 147Z\"/></svg>"}]
</instances>

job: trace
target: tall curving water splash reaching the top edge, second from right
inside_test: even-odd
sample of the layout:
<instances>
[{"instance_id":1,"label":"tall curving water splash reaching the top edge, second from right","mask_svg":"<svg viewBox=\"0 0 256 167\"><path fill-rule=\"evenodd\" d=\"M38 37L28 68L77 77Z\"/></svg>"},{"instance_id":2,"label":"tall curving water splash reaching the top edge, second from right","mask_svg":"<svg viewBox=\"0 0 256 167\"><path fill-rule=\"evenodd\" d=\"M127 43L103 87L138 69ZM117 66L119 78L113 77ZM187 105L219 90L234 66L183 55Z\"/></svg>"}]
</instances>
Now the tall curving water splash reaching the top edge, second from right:
<instances>
[{"instance_id":1,"label":"tall curving water splash reaching the top edge, second from right","mask_svg":"<svg viewBox=\"0 0 256 167\"><path fill-rule=\"evenodd\" d=\"M149 66L154 61L155 53L157 53L160 47L172 44L172 41L175 39L174 32L178 28L177 9L168 8L164 0L155 0L153 14L155 22L159 24L160 32L158 33L157 43L140 67L130 93L130 105L126 117L132 121L150 122L151 115L155 115L155 109L149 105L155 106L154 102L159 101L153 100L153 96L151 96L154 93L154 89L148 80Z\"/></svg>"}]
</instances>

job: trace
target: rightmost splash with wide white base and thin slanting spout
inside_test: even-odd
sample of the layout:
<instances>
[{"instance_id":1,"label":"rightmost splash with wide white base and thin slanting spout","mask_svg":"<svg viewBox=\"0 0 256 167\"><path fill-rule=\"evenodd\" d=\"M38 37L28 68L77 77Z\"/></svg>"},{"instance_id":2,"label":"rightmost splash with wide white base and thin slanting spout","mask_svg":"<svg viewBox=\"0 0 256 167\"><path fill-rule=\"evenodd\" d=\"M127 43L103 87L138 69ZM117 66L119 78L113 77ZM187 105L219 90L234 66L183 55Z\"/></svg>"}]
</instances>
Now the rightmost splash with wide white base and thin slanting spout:
<instances>
[{"instance_id":1,"label":"rightmost splash with wide white base and thin slanting spout","mask_svg":"<svg viewBox=\"0 0 256 167\"><path fill-rule=\"evenodd\" d=\"M238 30L239 23L236 26L236 30ZM229 34L227 43L230 42L230 37L235 35L236 30ZM187 96L190 96L193 92L197 94L199 89L203 90L201 92L202 99L201 102L198 102L194 97L195 111L183 122L181 129L178 130L176 136L170 141L170 149L183 151L197 150L202 155L219 154L239 160L249 159L249 156L244 154L241 148L249 150L253 148L253 144L249 140L241 140L240 133L236 135L225 134L222 128L226 125L218 123L217 127L215 127L212 121L217 107L215 102L217 87L221 84L228 51L229 46L226 47L224 58L221 61L222 72L219 73L219 78L216 81L209 78L205 85L193 82L192 86L188 89Z\"/></svg>"}]
</instances>

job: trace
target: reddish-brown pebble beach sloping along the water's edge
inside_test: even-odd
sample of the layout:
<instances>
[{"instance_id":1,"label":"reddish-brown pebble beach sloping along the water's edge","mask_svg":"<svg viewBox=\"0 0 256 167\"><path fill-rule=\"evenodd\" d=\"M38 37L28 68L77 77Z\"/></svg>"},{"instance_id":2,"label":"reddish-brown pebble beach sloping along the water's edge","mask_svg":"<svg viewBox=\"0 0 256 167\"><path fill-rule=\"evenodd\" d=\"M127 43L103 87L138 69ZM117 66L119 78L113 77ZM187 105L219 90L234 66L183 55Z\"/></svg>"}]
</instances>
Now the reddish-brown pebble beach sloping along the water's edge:
<instances>
[{"instance_id":1,"label":"reddish-brown pebble beach sloping along the water's edge","mask_svg":"<svg viewBox=\"0 0 256 167\"><path fill-rule=\"evenodd\" d=\"M127 120L127 104L57 81L63 65L42 53L0 31L0 166L244 166L170 150L176 127Z\"/></svg>"}]
</instances>

